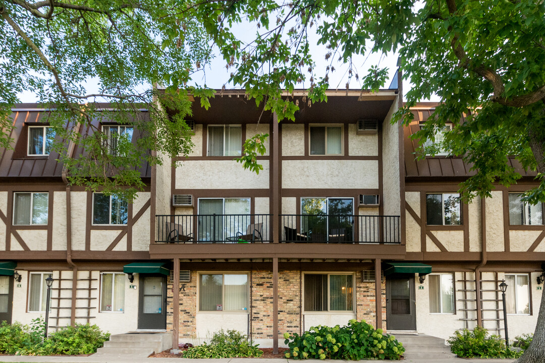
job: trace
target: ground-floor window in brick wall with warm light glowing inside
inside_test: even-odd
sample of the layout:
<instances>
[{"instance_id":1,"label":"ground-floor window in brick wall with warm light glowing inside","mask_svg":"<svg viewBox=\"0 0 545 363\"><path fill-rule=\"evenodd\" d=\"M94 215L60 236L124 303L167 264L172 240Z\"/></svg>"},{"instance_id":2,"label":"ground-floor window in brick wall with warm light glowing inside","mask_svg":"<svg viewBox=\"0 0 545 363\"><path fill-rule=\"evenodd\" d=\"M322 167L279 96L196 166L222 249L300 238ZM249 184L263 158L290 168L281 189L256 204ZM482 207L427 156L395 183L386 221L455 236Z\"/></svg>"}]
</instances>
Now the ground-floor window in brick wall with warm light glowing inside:
<instances>
[{"instance_id":1,"label":"ground-floor window in brick wall with warm light glowing inside","mask_svg":"<svg viewBox=\"0 0 545 363\"><path fill-rule=\"evenodd\" d=\"M305 311L354 311L354 275L305 274Z\"/></svg>"}]
</instances>

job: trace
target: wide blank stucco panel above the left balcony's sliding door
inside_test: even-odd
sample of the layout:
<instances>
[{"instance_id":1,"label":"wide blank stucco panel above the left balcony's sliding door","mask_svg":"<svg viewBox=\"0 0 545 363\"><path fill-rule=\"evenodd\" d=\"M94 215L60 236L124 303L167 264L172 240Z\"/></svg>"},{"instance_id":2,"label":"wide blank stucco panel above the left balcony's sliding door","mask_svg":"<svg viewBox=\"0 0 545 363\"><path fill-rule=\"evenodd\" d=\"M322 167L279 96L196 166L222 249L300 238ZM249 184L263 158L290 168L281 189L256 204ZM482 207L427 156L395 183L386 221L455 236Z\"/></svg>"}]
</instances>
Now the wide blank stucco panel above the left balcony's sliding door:
<instances>
[{"instance_id":1,"label":"wide blank stucco panel above the left balcony's sliding door","mask_svg":"<svg viewBox=\"0 0 545 363\"><path fill-rule=\"evenodd\" d=\"M234 158L234 157L233 157ZM186 160L176 168L177 189L267 189L269 161L259 175L232 160Z\"/></svg>"}]
</instances>

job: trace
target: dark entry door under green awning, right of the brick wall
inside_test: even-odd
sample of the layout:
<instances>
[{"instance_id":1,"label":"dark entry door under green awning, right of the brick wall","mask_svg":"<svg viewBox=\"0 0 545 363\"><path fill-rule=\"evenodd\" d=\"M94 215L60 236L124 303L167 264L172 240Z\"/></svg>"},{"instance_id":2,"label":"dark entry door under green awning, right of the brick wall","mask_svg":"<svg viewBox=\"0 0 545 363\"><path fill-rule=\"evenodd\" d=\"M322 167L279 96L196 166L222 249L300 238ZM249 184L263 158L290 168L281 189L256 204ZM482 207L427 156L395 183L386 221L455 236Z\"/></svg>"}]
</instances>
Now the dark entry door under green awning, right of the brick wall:
<instances>
[{"instance_id":1,"label":"dark entry door under green awning, right of the brick wall","mask_svg":"<svg viewBox=\"0 0 545 363\"><path fill-rule=\"evenodd\" d=\"M414 275L386 278L386 326L388 330L416 330Z\"/></svg>"}]
</instances>

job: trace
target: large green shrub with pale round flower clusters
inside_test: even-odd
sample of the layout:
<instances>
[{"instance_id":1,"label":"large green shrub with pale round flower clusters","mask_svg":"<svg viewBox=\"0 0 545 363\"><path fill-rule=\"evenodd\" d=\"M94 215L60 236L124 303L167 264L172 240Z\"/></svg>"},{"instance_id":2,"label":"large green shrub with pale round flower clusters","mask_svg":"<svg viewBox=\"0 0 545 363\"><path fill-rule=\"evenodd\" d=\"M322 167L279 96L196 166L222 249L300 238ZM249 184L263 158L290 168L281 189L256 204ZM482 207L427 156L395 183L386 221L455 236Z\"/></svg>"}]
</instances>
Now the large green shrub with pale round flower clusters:
<instances>
[{"instance_id":1,"label":"large green shrub with pale round flower clusters","mask_svg":"<svg viewBox=\"0 0 545 363\"><path fill-rule=\"evenodd\" d=\"M302 335L285 333L284 338L289 347L286 358L293 359L397 360L405 351L393 335L355 319L342 328L318 325Z\"/></svg>"}]
</instances>

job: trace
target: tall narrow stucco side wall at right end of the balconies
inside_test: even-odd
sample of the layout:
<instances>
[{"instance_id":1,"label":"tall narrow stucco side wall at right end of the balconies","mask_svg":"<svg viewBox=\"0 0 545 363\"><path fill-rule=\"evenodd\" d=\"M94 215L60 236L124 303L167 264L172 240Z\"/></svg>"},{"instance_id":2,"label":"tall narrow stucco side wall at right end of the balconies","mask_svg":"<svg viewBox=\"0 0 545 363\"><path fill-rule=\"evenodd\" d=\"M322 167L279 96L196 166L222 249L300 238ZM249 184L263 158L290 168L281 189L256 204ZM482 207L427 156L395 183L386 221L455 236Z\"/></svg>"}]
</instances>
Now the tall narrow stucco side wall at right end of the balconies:
<instances>
[{"instance_id":1,"label":"tall narrow stucco side wall at right end of the balconies","mask_svg":"<svg viewBox=\"0 0 545 363\"><path fill-rule=\"evenodd\" d=\"M399 96L398 96L399 97ZM383 211L385 216L399 216L401 205L399 199L399 128L398 124L392 125L391 118L397 111L397 99L392 106L384 122L382 123L382 159L383 159ZM403 147L403 145L401 145Z\"/></svg>"}]
</instances>

